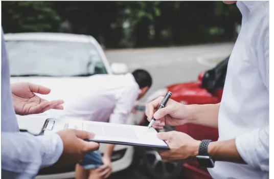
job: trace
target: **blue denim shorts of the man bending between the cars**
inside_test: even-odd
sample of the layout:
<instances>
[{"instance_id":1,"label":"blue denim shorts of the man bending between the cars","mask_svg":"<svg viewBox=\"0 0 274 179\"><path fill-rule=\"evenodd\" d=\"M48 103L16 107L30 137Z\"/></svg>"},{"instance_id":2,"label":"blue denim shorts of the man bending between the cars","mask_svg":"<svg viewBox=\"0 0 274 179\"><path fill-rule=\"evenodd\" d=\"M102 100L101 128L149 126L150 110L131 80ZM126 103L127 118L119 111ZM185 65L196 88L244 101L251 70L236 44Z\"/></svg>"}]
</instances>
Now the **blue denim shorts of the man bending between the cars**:
<instances>
[{"instance_id":1,"label":"blue denim shorts of the man bending between the cars","mask_svg":"<svg viewBox=\"0 0 274 179\"><path fill-rule=\"evenodd\" d=\"M95 169L103 165L102 155L97 151L88 152L84 156L84 160L79 163L84 169Z\"/></svg>"}]
</instances>

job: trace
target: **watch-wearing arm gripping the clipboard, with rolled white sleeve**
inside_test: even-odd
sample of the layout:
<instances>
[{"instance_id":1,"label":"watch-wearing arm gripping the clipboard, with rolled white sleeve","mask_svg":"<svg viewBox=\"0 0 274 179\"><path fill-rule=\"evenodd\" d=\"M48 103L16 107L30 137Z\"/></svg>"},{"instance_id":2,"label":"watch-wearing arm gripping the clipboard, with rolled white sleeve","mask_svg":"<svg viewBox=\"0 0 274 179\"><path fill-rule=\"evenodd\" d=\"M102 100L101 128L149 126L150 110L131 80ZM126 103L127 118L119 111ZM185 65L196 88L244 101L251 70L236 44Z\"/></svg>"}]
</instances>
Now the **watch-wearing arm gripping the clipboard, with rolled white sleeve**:
<instances>
[{"instance_id":1,"label":"watch-wearing arm gripping the clipboard, with rolled white sleeve","mask_svg":"<svg viewBox=\"0 0 274 179\"><path fill-rule=\"evenodd\" d=\"M159 151L165 162L185 162L194 159L200 141L178 131L159 132L170 150ZM236 139L211 142L208 152L216 161L248 164L262 171L269 171L269 126L244 133Z\"/></svg>"}]
</instances>

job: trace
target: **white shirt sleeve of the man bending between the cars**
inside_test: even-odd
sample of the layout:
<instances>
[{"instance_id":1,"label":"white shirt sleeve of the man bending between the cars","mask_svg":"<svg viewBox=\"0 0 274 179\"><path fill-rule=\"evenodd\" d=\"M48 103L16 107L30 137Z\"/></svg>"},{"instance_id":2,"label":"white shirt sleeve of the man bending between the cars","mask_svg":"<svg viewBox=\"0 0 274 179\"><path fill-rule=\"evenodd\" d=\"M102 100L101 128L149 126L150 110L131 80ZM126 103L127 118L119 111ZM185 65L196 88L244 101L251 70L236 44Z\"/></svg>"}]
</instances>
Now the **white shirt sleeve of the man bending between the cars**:
<instances>
[{"instance_id":1,"label":"white shirt sleeve of the man bending between the cars","mask_svg":"<svg viewBox=\"0 0 274 179\"><path fill-rule=\"evenodd\" d=\"M129 87L116 103L113 113L109 117L109 122L125 124L138 95L139 87L133 85Z\"/></svg>"}]
</instances>

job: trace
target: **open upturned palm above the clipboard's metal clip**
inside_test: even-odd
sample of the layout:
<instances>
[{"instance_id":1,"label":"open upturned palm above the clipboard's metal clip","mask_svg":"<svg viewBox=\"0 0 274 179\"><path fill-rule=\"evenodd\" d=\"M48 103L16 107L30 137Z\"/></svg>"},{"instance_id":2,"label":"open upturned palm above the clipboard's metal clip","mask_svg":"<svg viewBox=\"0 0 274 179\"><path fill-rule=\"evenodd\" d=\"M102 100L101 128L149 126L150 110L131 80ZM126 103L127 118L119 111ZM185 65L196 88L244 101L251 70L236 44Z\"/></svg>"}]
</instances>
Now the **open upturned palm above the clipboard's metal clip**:
<instances>
[{"instance_id":1,"label":"open upturned palm above the clipboard's metal clip","mask_svg":"<svg viewBox=\"0 0 274 179\"><path fill-rule=\"evenodd\" d=\"M51 89L28 82L11 84L13 105L17 115L43 113L49 109L63 109L63 100L47 101L35 93L47 95Z\"/></svg>"}]
</instances>

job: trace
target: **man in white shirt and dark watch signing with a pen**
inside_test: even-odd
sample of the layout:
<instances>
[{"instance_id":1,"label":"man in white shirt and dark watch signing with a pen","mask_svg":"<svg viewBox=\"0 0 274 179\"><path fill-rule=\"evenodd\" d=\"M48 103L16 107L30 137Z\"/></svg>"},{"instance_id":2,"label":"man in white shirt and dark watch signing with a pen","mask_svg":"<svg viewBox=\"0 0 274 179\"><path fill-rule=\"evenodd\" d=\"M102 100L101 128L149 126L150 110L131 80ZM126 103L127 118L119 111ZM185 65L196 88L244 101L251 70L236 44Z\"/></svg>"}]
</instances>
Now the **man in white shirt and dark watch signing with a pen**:
<instances>
[{"instance_id":1,"label":"man in white shirt and dark watch signing with a pen","mask_svg":"<svg viewBox=\"0 0 274 179\"><path fill-rule=\"evenodd\" d=\"M224 2L232 4L235 2ZM186 133L158 133L169 151L164 161L197 159L213 178L269 178L269 1L238 1L242 13L240 34L227 66L221 103L183 105L162 98L148 104L154 127L186 123L218 127L219 139L197 141ZM214 166L214 161L215 166ZM213 168L214 167L214 168Z\"/></svg>"}]
</instances>

